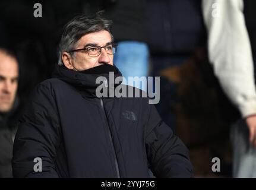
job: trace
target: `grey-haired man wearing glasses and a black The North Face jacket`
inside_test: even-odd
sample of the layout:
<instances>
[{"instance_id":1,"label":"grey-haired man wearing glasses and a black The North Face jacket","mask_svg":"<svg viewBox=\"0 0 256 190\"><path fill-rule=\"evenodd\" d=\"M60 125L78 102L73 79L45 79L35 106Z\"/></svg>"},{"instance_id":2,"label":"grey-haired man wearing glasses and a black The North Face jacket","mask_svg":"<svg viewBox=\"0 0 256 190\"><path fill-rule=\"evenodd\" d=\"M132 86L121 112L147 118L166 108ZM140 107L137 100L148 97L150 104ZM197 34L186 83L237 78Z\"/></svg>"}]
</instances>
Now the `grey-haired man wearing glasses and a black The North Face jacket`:
<instances>
[{"instance_id":1,"label":"grey-haired man wearing glasses and a black The North Face jacket","mask_svg":"<svg viewBox=\"0 0 256 190\"><path fill-rule=\"evenodd\" d=\"M99 97L99 77L108 95L123 85L110 80L121 77L111 24L96 15L65 26L54 77L37 86L20 119L14 177L148 178L148 167L157 178L193 176L187 148L147 98Z\"/></svg>"}]
</instances>

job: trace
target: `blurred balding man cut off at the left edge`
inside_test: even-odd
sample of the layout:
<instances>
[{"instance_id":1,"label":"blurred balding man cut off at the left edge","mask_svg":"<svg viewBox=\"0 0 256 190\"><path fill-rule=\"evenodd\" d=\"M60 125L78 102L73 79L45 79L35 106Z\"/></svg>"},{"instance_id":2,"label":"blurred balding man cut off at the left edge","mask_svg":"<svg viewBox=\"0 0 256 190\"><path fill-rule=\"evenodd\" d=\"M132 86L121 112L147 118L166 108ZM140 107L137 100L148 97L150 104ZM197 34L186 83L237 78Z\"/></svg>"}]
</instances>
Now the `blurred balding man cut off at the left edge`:
<instances>
[{"instance_id":1,"label":"blurred balding man cut off at the left edge","mask_svg":"<svg viewBox=\"0 0 256 190\"><path fill-rule=\"evenodd\" d=\"M18 62L12 53L0 48L0 178L11 178L14 132L9 123L17 107Z\"/></svg>"}]
</instances>

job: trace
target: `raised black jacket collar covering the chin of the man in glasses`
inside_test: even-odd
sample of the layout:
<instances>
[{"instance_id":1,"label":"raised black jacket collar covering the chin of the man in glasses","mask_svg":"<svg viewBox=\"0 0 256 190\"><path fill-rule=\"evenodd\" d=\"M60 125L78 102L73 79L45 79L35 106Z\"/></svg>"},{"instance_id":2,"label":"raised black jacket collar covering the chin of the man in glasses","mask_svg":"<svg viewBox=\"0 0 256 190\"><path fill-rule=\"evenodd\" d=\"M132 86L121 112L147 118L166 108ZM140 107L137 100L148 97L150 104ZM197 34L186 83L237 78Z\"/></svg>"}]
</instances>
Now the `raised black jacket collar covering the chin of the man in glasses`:
<instances>
[{"instance_id":1,"label":"raised black jacket collar covering the chin of the man in glasses","mask_svg":"<svg viewBox=\"0 0 256 190\"><path fill-rule=\"evenodd\" d=\"M112 78L110 77L110 74L113 74L114 80L111 80ZM109 64L95 66L84 71L73 71L65 66L56 65L55 71L53 72L53 78L58 78L59 80L78 88L78 90L83 92L84 96L91 98L97 97L96 88L99 87L99 85L102 85L102 83L96 83L98 77L106 78L108 85L105 85L104 87L108 88L108 94L110 88L115 88L122 83L122 81L118 84L114 83L115 78L122 77L122 74L116 66Z\"/></svg>"}]
</instances>

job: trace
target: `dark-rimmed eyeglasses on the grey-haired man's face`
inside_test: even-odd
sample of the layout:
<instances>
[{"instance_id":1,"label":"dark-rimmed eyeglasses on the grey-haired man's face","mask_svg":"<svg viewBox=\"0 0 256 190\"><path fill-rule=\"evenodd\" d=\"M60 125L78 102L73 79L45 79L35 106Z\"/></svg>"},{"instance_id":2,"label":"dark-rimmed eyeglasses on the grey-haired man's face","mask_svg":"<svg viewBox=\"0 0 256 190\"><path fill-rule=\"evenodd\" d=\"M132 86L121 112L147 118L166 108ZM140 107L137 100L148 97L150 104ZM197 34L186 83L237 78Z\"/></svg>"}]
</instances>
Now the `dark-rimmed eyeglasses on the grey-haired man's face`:
<instances>
[{"instance_id":1,"label":"dark-rimmed eyeglasses on the grey-haired man's face","mask_svg":"<svg viewBox=\"0 0 256 190\"><path fill-rule=\"evenodd\" d=\"M111 43L109 45L106 45L106 46L90 46L90 47L85 47L85 48L82 48L82 49L74 49L74 50L71 50L69 51L69 53L72 53L72 52L77 52L77 51L84 51L84 52L87 52L88 53L88 56L89 57L97 57L100 55L100 53L102 52L102 48L104 48L106 50L106 53L108 55L113 55L116 53L116 44L115 43Z\"/></svg>"}]
</instances>

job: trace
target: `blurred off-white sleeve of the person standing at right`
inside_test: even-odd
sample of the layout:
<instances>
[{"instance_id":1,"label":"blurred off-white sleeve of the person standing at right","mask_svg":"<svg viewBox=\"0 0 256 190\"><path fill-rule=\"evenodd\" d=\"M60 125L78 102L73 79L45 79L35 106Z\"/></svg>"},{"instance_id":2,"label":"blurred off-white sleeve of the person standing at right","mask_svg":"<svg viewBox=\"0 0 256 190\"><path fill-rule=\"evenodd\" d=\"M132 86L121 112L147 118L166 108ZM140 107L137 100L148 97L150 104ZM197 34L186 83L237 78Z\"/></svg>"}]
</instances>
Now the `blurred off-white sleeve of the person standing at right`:
<instances>
[{"instance_id":1,"label":"blurred off-white sleeve of the person standing at right","mask_svg":"<svg viewBox=\"0 0 256 190\"><path fill-rule=\"evenodd\" d=\"M208 54L214 74L243 117L256 114L251 45L242 0L203 0Z\"/></svg>"}]
</instances>

